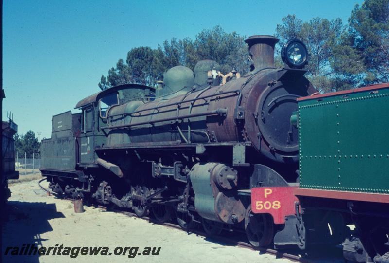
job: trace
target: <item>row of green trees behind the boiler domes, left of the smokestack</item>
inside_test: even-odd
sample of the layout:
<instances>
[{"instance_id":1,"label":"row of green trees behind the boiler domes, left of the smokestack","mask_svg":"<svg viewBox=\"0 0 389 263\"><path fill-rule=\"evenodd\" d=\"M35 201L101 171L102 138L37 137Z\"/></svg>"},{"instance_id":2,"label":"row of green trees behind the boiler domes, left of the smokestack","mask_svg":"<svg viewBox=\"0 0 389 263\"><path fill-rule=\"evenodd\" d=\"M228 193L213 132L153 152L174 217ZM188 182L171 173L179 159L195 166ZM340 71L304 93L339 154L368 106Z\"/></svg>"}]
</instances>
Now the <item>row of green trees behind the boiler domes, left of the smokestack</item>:
<instances>
[{"instance_id":1,"label":"row of green trees behind the boiler domes, left of the smokestack","mask_svg":"<svg viewBox=\"0 0 389 263\"><path fill-rule=\"evenodd\" d=\"M99 87L104 90L124 83L155 86L169 68L183 65L193 70L197 61L202 59L217 61L224 73L233 69L246 73L247 53L244 37L236 32L227 33L220 26L215 26L201 31L195 40L173 38L165 40L157 49L132 48L125 62L119 59L107 76L102 75Z\"/></svg>"}]
</instances>

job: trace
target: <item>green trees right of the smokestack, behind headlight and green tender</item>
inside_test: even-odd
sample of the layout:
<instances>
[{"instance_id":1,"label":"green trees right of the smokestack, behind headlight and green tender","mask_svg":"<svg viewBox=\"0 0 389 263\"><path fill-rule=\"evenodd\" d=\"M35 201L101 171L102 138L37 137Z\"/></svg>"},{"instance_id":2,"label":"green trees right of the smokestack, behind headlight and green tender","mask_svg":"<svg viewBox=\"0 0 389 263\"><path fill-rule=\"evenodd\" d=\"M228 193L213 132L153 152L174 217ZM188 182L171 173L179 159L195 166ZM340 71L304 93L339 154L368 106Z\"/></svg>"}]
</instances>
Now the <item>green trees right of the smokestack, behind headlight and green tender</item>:
<instances>
[{"instance_id":1,"label":"green trees right of the smokestack, behind headlight and green tender","mask_svg":"<svg viewBox=\"0 0 389 263\"><path fill-rule=\"evenodd\" d=\"M279 48L298 38L310 53L307 76L321 92L389 82L389 0L355 5L343 27L340 19L307 22L288 15L277 25Z\"/></svg>"}]
</instances>

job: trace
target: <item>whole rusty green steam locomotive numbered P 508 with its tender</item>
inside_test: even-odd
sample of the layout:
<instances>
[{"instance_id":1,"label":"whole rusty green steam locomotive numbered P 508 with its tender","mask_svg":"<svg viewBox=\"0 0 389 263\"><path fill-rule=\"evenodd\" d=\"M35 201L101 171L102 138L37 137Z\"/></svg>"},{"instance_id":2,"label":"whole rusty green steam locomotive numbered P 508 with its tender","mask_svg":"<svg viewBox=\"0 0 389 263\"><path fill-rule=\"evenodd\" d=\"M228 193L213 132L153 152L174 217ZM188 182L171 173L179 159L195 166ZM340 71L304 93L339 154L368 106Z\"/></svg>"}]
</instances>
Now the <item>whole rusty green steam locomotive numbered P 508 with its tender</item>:
<instances>
[{"instance_id":1,"label":"whole rusty green steam locomotive numbered P 508 with its tender","mask_svg":"<svg viewBox=\"0 0 389 263\"><path fill-rule=\"evenodd\" d=\"M304 44L285 44L281 69L278 41L246 39L247 75L223 75L216 62L199 61L195 73L170 69L157 90L116 86L81 100L81 113L54 116L41 148L50 188L138 216L151 210L160 222L175 217L184 229L196 222L209 234L245 227L253 246L271 244L294 213L298 130L290 116L297 98L316 92L304 77ZM261 205L251 188L280 198Z\"/></svg>"}]
</instances>

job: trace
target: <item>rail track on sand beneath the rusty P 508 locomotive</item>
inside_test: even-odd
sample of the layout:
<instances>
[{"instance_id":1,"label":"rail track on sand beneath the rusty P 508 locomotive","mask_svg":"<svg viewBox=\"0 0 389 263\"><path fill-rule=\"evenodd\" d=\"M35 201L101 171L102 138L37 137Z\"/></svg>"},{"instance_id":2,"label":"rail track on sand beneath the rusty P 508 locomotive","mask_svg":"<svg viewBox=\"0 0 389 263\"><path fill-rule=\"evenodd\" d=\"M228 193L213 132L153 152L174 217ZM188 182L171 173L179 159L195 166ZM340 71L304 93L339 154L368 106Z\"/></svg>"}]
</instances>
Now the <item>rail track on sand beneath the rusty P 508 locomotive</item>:
<instances>
[{"instance_id":1,"label":"rail track on sand beneath the rusty P 508 locomotive","mask_svg":"<svg viewBox=\"0 0 389 263\"><path fill-rule=\"evenodd\" d=\"M47 193L50 193L50 194L56 196L56 193L54 193L54 192L44 188L41 185L41 182L43 182L44 180L46 180L46 178L43 178L43 179L41 179L38 182L39 187L42 188ZM65 199L73 201L73 199L71 199L71 198L65 198ZM90 205L95 206L95 207L99 207L99 208L102 208L102 209L108 209L108 207L102 206L102 205L96 205L96 204L90 204ZM137 215L135 213L130 212L130 211L124 211L124 210L120 210L120 209L112 209L112 211L124 214L124 215L129 216L129 217L137 217ZM178 225L178 223L176 223L176 224L172 223L172 222L160 223L157 220L155 220L155 219L153 219L152 217L149 217L149 216L144 216L144 217L141 217L140 219L146 220L146 221L154 223L154 224L164 225L164 226L167 226L167 227L172 227L172 228L179 229L181 231L185 231ZM194 229L191 229L190 232L192 232L192 233L194 233L194 234L196 234L198 236L204 237L204 238L209 238L211 240L213 239L215 241L216 240L217 241L221 241L221 242L223 242L225 244L234 244L234 245L237 245L237 246L245 248L245 249L257 250L257 249L253 249L252 246L250 244L248 244L247 242L244 242L244 241L241 241L241 240L237 240L236 237L229 237L228 236L229 233L227 233L224 236L217 235L217 236L209 237L205 232L199 230L198 227L196 227ZM241 239L244 239L244 237L242 236ZM302 257L298 253L293 253L293 254L292 253L286 253L286 252L282 252L282 251L279 251L279 250L276 250L276 249L272 249L272 248L259 248L257 251L259 251L260 253L266 253L266 254L269 254L269 255L274 255L274 256L276 256L276 258L288 259L288 260L291 260L291 261L294 261L294 262L314 263L314 261L312 259L308 259L308 258ZM297 252L301 252L301 251L297 251Z\"/></svg>"}]
</instances>

